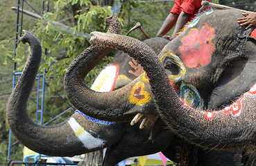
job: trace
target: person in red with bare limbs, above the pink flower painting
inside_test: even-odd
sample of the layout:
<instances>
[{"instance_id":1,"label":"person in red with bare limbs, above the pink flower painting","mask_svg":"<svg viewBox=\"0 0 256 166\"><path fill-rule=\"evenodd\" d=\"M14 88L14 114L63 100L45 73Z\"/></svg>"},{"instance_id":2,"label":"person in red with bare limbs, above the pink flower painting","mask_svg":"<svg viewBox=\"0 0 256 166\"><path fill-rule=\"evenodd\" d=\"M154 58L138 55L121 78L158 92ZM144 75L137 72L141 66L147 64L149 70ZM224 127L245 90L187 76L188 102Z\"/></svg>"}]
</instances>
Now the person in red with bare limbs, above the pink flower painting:
<instances>
[{"instance_id":1,"label":"person in red with bare limbs, above the pink flower painting","mask_svg":"<svg viewBox=\"0 0 256 166\"><path fill-rule=\"evenodd\" d=\"M207 1L210 2L210 0ZM156 37L164 37L170 40L174 39L179 30L181 30L188 21L191 21L194 19L194 17L196 17L200 7L201 0L175 0L173 8L171 9L167 18L164 20L164 23L162 24ZM171 30L171 28L173 28L175 24L176 26L171 37L165 35L169 32L169 30Z\"/></svg>"}]
</instances>

